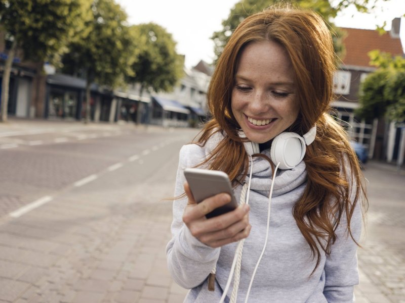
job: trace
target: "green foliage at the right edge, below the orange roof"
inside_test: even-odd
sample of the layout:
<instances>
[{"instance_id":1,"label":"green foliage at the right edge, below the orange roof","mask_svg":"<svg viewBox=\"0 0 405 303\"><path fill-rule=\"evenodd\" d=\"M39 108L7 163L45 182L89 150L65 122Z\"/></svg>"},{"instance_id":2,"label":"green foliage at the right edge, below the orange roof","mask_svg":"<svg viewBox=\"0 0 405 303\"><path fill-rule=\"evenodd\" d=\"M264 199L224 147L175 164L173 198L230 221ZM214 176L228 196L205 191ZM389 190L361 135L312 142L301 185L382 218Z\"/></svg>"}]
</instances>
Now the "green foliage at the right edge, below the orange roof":
<instances>
[{"instance_id":1,"label":"green foliage at the right edge, below the orange roof","mask_svg":"<svg viewBox=\"0 0 405 303\"><path fill-rule=\"evenodd\" d=\"M405 59L379 51L370 52L369 56L379 68L361 84L356 114L361 118L405 121Z\"/></svg>"}]
</instances>

